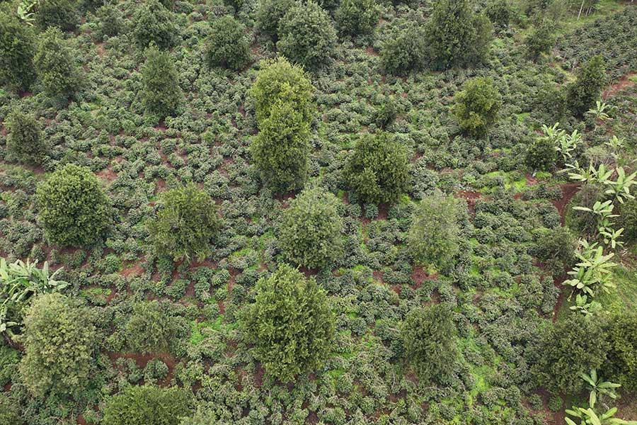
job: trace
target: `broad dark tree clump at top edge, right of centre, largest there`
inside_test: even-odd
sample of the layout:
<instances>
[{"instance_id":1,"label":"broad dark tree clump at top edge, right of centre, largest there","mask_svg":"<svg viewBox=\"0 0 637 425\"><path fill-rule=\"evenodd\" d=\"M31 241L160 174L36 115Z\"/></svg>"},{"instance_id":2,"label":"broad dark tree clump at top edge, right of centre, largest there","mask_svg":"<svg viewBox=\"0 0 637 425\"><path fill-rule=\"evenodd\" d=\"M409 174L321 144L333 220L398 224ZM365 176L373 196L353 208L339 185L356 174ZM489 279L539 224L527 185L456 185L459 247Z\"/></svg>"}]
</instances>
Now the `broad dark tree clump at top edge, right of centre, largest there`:
<instances>
[{"instance_id":1,"label":"broad dark tree clump at top edge, right of centre, largest there","mask_svg":"<svg viewBox=\"0 0 637 425\"><path fill-rule=\"evenodd\" d=\"M434 69L485 62L493 39L490 21L471 11L467 0L437 1L426 32Z\"/></svg>"}]
</instances>

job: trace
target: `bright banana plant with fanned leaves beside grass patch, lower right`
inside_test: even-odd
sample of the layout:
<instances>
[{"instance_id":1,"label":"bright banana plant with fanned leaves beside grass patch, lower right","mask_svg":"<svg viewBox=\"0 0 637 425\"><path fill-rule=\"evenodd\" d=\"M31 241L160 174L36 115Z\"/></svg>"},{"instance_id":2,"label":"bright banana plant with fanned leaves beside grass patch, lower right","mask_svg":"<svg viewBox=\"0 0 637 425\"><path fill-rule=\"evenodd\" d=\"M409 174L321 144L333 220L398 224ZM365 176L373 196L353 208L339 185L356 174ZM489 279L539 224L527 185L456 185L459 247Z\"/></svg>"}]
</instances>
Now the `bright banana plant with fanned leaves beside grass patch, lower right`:
<instances>
[{"instance_id":1,"label":"bright banana plant with fanned leaves beside grass patch, lower right","mask_svg":"<svg viewBox=\"0 0 637 425\"><path fill-rule=\"evenodd\" d=\"M604 255L602 246L597 246L597 243L588 244L583 240L580 245L581 251L575 252L575 256L580 261L575 264L573 270L568 272L572 278L564 280L563 285L573 286L574 289L581 290L591 297L595 297L599 289L609 293L612 288L615 288L611 268L616 266L616 263L610 261L614 254L611 252Z\"/></svg>"}]
</instances>

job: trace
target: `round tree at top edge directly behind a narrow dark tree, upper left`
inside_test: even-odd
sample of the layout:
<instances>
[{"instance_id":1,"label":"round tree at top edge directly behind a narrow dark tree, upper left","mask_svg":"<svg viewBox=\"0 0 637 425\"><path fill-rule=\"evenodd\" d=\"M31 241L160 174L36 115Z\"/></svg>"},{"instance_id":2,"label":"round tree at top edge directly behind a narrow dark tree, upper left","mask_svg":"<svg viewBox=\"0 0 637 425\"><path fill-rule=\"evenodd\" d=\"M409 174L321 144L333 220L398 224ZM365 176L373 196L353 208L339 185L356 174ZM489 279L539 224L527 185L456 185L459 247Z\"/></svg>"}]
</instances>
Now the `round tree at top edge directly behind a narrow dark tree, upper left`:
<instances>
[{"instance_id":1,"label":"round tree at top edge directly behind a narrow dark tree, upper left","mask_svg":"<svg viewBox=\"0 0 637 425\"><path fill-rule=\"evenodd\" d=\"M178 28L174 17L157 0L143 1L133 13L132 35L140 48L148 47L151 42L160 49L168 49L176 44Z\"/></svg>"}]
</instances>

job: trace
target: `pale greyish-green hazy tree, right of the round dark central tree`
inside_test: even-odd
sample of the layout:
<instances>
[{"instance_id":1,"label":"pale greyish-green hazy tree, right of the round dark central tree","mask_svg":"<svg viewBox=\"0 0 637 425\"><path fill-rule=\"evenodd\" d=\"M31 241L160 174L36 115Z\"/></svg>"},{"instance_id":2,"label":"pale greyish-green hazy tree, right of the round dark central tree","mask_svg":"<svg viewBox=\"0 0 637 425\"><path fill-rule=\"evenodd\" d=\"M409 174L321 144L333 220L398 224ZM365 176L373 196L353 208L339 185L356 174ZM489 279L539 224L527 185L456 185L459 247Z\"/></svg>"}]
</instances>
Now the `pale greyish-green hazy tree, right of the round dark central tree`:
<instances>
[{"instance_id":1,"label":"pale greyish-green hazy tree, right of the round dark central tree","mask_svg":"<svg viewBox=\"0 0 637 425\"><path fill-rule=\"evenodd\" d=\"M407 236L411 257L420 265L449 266L459 245L457 200L436 192L416 205Z\"/></svg>"}]
</instances>

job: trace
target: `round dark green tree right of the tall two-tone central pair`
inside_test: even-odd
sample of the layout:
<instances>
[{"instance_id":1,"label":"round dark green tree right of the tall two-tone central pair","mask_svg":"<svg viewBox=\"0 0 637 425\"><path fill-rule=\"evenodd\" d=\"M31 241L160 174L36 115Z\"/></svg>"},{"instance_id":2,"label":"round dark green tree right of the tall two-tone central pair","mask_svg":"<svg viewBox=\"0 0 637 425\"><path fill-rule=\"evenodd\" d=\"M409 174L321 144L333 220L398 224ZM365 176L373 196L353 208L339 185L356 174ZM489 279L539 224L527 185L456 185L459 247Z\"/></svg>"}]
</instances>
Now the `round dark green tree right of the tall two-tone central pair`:
<instances>
[{"instance_id":1,"label":"round dark green tree right of the tall two-tone central pair","mask_svg":"<svg viewBox=\"0 0 637 425\"><path fill-rule=\"evenodd\" d=\"M391 203L408 189L406 148L393 135L363 134L343 169L343 179L365 203Z\"/></svg>"}]
</instances>

